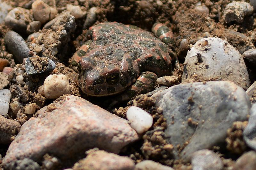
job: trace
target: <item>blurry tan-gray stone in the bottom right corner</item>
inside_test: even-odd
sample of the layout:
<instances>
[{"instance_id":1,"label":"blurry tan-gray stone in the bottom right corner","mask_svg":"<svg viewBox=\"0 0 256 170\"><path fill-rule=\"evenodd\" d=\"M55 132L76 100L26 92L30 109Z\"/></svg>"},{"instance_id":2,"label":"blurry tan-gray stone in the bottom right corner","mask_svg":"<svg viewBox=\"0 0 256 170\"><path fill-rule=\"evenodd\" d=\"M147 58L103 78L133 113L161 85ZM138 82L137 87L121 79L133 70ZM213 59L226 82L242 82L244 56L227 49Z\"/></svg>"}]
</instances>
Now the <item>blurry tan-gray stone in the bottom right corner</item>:
<instances>
[{"instance_id":1,"label":"blurry tan-gray stone in the bottom right corner","mask_svg":"<svg viewBox=\"0 0 256 170\"><path fill-rule=\"evenodd\" d=\"M236 160L236 169L254 170L256 167L256 152L249 151L244 153Z\"/></svg>"}]
</instances>

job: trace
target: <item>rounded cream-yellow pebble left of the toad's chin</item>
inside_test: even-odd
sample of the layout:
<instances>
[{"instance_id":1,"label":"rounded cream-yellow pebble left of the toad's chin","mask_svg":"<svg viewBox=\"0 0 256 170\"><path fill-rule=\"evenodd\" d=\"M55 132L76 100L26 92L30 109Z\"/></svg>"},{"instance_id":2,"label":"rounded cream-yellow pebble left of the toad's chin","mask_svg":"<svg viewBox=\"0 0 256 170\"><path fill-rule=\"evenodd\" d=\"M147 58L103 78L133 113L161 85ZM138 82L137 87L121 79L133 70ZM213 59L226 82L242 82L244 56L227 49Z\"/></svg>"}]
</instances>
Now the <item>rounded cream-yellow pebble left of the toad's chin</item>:
<instances>
[{"instance_id":1,"label":"rounded cream-yellow pebble left of the toad's chin","mask_svg":"<svg viewBox=\"0 0 256 170\"><path fill-rule=\"evenodd\" d=\"M70 93L68 78L63 74L53 74L44 80L44 96L47 99L57 99L63 94Z\"/></svg>"}]
</instances>

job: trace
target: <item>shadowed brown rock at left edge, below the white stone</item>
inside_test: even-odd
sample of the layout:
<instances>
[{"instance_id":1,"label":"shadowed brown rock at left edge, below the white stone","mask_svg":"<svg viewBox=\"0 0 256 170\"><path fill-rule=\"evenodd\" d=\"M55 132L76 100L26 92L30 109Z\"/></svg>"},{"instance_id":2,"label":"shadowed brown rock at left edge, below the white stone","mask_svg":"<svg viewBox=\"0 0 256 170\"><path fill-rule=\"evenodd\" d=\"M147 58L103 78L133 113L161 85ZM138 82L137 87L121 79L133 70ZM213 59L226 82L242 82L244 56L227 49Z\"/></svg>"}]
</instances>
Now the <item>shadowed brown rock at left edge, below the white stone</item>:
<instances>
[{"instance_id":1,"label":"shadowed brown rock at left edge, below the white stone","mask_svg":"<svg viewBox=\"0 0 256 170\"><path fill-rule=\"evenodd\" d=\"M0 115L0 144L10 144L20 131L20 127L19 122Z\"/></svg>"}]
</instances>

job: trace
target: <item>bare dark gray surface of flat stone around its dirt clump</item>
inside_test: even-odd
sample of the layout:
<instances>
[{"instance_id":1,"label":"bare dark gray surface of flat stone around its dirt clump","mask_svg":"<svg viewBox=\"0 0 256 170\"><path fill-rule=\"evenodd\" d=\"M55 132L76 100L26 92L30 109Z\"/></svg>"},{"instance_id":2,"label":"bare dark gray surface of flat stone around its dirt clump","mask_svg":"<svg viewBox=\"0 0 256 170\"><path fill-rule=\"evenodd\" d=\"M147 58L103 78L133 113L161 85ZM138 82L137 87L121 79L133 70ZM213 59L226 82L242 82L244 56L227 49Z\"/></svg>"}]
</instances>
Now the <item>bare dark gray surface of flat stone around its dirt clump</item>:
<instances>
[{"instance_id":1,"label":"bare dark gray surface of flat stone around its dirt clump","mask_svg":"<svg viewBox=\"0 0 256 170\"><path fill-rule=\"evenodd\" d=\"M52 70L54 70L56 68L55 63L49 59L49 58L45 58L45 60L48 60L48 65L47 65L47 70L41 70L41 71L37 71L35 69L35 67L33 66L33 64L31 63L31 59L32 58L36 58L36 57L29 57L26 59L25 61L25 69L26 69L26 73L31 75L31 74L38 74L38 73L44 73L44 72L50 72Z\"/></svg>"}]
</instances>

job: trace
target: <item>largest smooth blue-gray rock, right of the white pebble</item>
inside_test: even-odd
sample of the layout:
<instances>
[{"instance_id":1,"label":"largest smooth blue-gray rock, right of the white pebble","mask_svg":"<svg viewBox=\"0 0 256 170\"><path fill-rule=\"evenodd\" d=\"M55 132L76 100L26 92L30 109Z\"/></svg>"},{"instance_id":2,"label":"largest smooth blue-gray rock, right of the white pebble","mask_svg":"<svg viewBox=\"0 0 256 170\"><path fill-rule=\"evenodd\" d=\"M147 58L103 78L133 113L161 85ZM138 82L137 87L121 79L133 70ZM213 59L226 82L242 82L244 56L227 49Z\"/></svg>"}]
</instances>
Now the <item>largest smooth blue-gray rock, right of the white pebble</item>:
<instances>
[{"instance_id":1,"label":"largest smooth blue-gray rock, right of the white pebble","mask_svg":"<svg viewBox=\"0 0 256 170\"><path fill-rule=\"evenodd\" d=\"M176 159L177 145L189 141L180 153L185 162L193 152L225 142L227 129L235 121L246 120L251 107L244 90L229 81L175 85L152 97L163 109L165 133Z\"/></svg>"}]
</instances>

